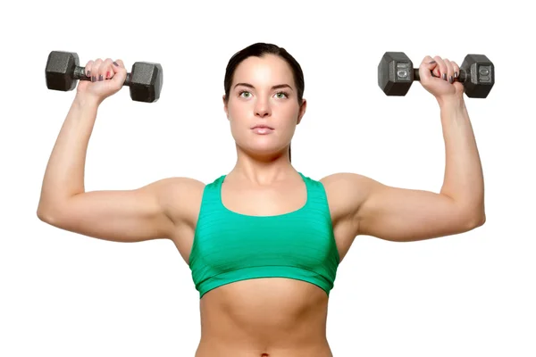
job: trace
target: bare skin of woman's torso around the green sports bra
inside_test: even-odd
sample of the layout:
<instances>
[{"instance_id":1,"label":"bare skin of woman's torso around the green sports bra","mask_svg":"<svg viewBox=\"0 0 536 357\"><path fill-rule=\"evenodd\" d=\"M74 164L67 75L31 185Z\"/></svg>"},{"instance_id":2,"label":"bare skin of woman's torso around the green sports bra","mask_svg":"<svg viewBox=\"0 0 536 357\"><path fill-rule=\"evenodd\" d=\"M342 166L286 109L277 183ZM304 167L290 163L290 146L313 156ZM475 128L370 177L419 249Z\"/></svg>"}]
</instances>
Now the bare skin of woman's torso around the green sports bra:
<instances>
[{"instance_id":1,"label":"bare skin of woman's torso around the green sports bra","mask_svg":"<svg viewBox=\"0 0 536 357\"><path fill-rule=\"evenodd\" d=\"M200 188L201 189L201 188ZM338 216L336 199L325 186L340 261L352 244L353 229ZM173 242L189 262L203 192L193 195L189 221ZM306 203L301 177L271 187L222 185L222 203L231 212L271 216ZM262 202L263 204L255 204ZM254 278L219 286L200 300L201 340L196 357L331 357L326 339L328 296L319 287L289 278Z\"/></svg>"}]
</instances>

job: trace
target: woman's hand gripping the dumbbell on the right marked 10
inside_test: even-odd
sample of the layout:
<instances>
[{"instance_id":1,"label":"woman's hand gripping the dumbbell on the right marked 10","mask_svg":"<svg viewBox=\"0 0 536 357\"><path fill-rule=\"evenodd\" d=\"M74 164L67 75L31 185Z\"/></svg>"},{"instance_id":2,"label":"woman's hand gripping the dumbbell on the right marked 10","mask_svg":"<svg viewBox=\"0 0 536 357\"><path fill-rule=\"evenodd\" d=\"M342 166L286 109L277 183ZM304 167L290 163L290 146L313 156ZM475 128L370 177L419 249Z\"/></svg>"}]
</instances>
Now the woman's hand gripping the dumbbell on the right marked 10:
<instances>
[{"instance_id":1,"label":"woman's hand gripping the dumbbell on the right marked 10","mask_svg":"<svg viewBox=\"0 0 536 357\"><path fill-rule=\"evenodd\" d=\"M424 89L441 102L448 98L464 99L464 85L458 81L460 67L440 56L426 56L419 66Z\"/></svg>"}]
</instances>

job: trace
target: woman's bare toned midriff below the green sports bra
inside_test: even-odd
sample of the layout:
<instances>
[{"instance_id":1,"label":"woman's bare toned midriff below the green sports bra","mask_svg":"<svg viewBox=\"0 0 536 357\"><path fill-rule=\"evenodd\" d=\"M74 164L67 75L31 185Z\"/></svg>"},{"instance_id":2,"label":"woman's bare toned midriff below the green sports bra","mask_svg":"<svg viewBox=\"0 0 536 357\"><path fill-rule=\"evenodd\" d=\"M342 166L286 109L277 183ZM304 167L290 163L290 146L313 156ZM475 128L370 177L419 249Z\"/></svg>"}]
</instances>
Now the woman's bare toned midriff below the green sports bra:
<instances>
[{"instance_id":1,"label":"woman's bare toned midriff below the green sports bra","mask_svg":"<svg viewBox=\"0 0 536 357\"><path fill-rule=\"evenodd\" d=\"M201 300L201 340L238 350L307 349L326 339L327 305L325 292L304 281L238 281L208 292Z\"/></svg>"}]
</instances>

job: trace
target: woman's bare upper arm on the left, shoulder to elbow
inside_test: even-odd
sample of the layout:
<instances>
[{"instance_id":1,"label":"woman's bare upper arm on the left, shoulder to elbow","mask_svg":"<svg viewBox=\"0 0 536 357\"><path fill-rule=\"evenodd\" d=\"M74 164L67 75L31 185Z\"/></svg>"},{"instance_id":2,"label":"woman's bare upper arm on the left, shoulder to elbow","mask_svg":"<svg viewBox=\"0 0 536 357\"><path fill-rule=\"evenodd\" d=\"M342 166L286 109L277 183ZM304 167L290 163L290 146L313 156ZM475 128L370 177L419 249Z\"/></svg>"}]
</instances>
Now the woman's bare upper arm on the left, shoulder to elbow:
<instances>
[{"instance_id":1,"label":"woman's bare upper arm on the left, shoulder to elbow","mask_svg":"<svg viewBox=\"0 0 536 357\"><path fill-rule=\"evenodd\" d=\"M114 242L172 239L181 227L191 226L202 187L194 179L171 178L132 190L85 192L55 204L39 203L38 218L56 228Z\"/></svg>"}]
</instances>

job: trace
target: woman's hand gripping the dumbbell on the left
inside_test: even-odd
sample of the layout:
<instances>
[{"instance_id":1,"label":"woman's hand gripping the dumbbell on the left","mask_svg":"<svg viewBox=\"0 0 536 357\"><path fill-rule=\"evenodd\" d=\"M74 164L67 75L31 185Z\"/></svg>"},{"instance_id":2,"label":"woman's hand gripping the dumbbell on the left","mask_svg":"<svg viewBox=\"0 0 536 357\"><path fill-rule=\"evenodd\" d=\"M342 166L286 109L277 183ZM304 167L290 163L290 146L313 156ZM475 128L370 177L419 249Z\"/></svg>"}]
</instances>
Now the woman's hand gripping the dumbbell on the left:
<instances>
[{"instance_id":1,"label":"woman's hand gripping the dumbbell on the left","mask_svg":"<svg viewBox=\"0 0 536 357\"><path fill-rule=\"evenodd\" d=\"M110 58L105 61L97 59L89 61L85 73L91 81L80 80L77 95L88 95L102 103L105 98L117 93L127 78L127 71L121 60L113 62Z\"/></svg>"}]
</instances>

